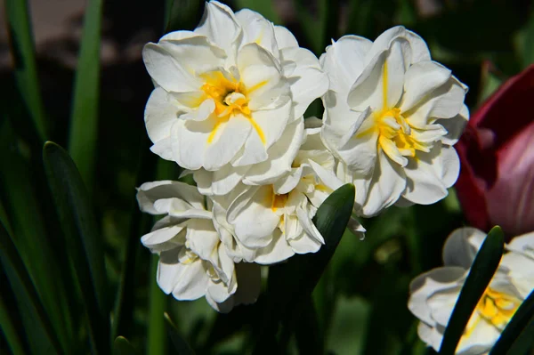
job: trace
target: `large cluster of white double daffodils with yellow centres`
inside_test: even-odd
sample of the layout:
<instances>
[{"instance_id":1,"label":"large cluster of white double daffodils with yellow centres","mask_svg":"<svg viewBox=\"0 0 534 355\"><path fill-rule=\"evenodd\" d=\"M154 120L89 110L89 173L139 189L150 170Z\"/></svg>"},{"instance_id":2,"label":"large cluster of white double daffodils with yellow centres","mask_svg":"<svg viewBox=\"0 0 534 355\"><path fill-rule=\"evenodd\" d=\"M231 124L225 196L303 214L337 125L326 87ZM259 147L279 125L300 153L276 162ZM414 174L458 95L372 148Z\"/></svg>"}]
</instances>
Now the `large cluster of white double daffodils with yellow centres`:
<instances>
[{"instance_id":1,"label":"large cluster of white double daffodils with yellow centres","mask_svg":"<svg viewBox=\"0 0 534 355\"><path fill-rule=\"evenodd\" d=\"M457 179L466 87L405 28L374 43L344 36L319 60L287 28L212 1L198 28L146 44L143 60L151 150L196 182L138 191L144 212L165 215L142 243L176 299L206 296L219 311L255 302L258 264L324 244L312 218L344 183L365 217L434 203ZM304 120L318 98L323 119Z\"/></svg>"}]
</instances>

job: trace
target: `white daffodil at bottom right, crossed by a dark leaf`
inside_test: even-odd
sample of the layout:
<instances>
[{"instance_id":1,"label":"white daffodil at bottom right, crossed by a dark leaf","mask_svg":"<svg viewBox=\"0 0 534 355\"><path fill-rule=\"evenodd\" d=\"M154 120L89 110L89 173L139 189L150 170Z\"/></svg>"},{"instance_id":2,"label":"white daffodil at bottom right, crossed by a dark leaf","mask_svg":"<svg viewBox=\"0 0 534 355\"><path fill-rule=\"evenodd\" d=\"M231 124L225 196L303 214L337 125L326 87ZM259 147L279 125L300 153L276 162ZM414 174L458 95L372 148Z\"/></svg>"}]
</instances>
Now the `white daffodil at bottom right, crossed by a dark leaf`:
<instances>
[{"instance_id":1,"label":"white daffodil at bottom right, crossed by a dark leaf","mask_svg":"<svg viewBox=\"0 0 534 355\"><path fill-rule=\"evenodd\" d=\"M417 333L435 351L441 347L450 315L484 238L486 235L474 228L455 230L443 247L445 266L418 276L410 285L409 310L421 320ZM534 233L514 238L506 249L508 253L465 327L457 354L480 355L490 351L514 312L534 289L531 254Z\"/></svg>"}]
</instances>

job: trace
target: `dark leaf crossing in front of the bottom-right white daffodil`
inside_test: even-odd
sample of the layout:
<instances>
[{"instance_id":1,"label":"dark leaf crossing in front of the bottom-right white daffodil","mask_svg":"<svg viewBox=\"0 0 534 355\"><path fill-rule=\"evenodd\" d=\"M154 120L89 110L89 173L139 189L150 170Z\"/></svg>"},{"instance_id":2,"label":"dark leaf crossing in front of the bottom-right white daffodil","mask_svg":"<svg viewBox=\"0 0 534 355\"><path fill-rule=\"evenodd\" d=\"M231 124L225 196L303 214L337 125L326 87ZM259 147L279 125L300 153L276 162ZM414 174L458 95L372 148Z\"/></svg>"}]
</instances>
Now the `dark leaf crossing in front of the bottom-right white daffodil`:
<instances>
[{"instance_id":1,"label":"dark leaf crossing in front of the bottom-right white daffodil","mask_svg":"<svg viewBox=\"0 0 534 355\"><path fill-rule=\"evenodd\" d=\"M474 258L469 275L465 279L457 303L452 311L449 324L445 329L441 342L440 355L454 354L465 326L481 299L486 287L490 284L493 274L504 252L505 237L500 227L493 227L484 239L481 249Z\"/></svg>"}]
</instances>

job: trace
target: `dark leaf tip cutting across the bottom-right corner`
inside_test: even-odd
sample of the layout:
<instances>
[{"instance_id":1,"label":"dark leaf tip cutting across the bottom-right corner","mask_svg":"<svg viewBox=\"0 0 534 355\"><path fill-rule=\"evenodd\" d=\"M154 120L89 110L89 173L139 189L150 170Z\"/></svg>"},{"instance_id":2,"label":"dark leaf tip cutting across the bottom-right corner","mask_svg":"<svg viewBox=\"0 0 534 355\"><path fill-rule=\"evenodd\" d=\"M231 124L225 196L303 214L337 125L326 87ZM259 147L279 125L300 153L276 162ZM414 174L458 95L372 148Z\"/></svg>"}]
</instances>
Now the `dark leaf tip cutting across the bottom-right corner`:
<instances>
[{"instance_id":1,"label":"dark leaf tip cutting across the bottom-right corner","mask_svg":"<svg viewBox=\"0 0 534 355\"><path fill-rule=\"evenodd\" d=\"M510 322L506 326L505 330L501 333L497 343L493 345L490 351L490 355L506 354L509 351L515 340L518 339L529 322L534 317L534 291L530 292L526 300L523 301L517 311L515 311L514 317L510 319ZM531 342L531 340L530 340ZM516 354L518 352L511 352Z\"/></svg>"}]
</instances>

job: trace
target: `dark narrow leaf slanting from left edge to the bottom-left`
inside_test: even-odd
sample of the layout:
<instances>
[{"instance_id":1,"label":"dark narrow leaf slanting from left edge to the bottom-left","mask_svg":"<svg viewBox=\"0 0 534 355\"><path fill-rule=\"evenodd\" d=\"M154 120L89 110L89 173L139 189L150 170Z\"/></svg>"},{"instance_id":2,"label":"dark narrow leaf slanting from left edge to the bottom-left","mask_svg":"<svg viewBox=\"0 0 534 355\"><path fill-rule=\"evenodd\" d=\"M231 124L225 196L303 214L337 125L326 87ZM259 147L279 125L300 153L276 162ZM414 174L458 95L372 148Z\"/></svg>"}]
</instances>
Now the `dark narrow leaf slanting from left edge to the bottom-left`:
<instances>
[{"instance_id":1,"label":"dark narrow leaf slanting from left edge to the bottom-left","mask_svg":"<svg viewBox=\"0 0 534 355\"><path fill-rule=\"evenodd\" d=\"M29 278L28 270L3 224L0 224L0 262L19 303L27 336L31 336L30 346L34 351L60 353L59 340Z\"/></svg>"}]
</instances>

